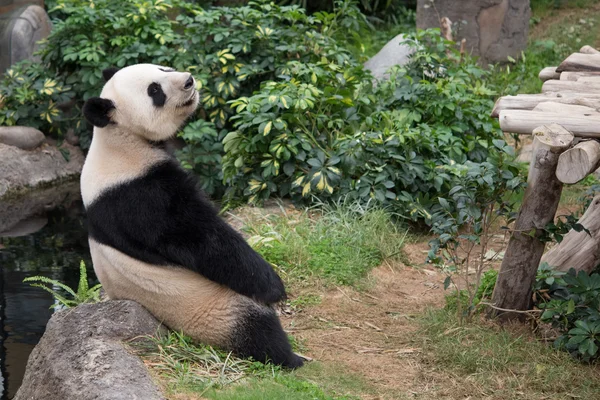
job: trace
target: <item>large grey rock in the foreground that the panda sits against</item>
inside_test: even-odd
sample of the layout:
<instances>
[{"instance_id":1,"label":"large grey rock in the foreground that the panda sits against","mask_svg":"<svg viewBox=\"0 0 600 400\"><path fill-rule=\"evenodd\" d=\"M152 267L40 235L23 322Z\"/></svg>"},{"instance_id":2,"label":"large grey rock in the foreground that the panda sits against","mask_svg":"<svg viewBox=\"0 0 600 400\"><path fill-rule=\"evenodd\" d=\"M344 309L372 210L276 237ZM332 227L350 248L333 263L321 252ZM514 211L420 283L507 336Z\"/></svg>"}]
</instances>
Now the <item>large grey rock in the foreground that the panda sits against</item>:
<instances>
[{"instance_id":1,"label":"large grey rock in the foreground that the panda sits against","mask_svg":"<svg viewBox=\"0 0 600 400\"><path fill-rule=\"evenodd\" d=\"M85 304L52 316L14 400L163 400L142 361L121 343L160 323L133 301Z\"/></svg>"}]
</instances>

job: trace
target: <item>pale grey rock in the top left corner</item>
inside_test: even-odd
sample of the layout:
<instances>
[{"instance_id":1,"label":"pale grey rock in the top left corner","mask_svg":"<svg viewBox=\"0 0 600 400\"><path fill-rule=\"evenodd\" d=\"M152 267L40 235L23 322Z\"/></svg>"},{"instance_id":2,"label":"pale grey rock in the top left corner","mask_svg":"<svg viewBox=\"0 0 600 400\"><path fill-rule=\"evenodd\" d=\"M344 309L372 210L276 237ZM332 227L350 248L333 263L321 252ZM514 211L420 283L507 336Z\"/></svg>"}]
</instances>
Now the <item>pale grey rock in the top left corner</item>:
<instances>
[{"instance_id":1,"label":"pale grey rock in the top left corner","mask_svg":"<svg viewBox=\"0 0 600 400\"><path fill-rule=\"evenodd\" d=\"M33 56L38 42L52 30L52 23L43 7L28 5L0 18L0 73L25 59L40 61Z\"/></svg>"}]
</instances>

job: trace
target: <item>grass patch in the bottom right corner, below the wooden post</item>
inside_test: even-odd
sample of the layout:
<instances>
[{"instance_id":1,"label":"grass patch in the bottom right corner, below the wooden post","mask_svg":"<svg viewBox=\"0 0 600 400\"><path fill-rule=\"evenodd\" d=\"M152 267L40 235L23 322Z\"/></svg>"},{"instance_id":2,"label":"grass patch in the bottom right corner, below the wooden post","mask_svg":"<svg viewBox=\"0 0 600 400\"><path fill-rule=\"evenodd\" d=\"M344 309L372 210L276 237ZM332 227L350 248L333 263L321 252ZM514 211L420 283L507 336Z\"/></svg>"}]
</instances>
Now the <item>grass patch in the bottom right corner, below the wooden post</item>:
<instances>
[{"instance_id":1,"label":"grass patch in the bottom right corner, below the wooden post","mask_svg":"<svg viewBox=\"0 0 600 400\"><path fill-rule=\"evenodd\" d=\"M581 365L528 332L511 332L483 321L459 325L455 315L444 310L428 311L420 321L425 362L441 371L437 383L458 380L461 386L455 390L465 396L600 398L597 366Z\"/></svg>"}]
</instances>

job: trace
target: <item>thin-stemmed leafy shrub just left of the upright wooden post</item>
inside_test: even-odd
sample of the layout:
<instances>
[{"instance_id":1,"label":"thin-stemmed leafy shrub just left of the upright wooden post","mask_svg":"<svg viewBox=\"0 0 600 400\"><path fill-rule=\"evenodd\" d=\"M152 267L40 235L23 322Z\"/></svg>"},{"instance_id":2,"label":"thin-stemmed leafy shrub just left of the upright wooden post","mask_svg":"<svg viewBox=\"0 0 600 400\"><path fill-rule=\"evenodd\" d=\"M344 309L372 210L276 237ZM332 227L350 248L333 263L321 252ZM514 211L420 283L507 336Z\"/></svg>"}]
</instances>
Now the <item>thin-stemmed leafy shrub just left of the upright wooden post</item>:
<instances>
[{"instance_id":1,"label":"thin-stemmed leafy shrub just left of the upright wooden post","mask_svg":"<svg viewBox=\"0 0 600 400\"><path fill-rule=\"evenodd\" d=\"M438 236L429 243L428 260L446 273L444 288L455 290L456 299L452 295L448 299L461 320L470 319L493 291L497 273L484 272L502 258L502 252L490 246L491 229L514 218L515 203L506 199L506 193L524 185L512 149L502 140L493 143L501 151L491 153L485 162L440 168L455 175L457 185L447 196L438 197L441 210L433 215L432 228Z\"/></svg>"}]
</instances>

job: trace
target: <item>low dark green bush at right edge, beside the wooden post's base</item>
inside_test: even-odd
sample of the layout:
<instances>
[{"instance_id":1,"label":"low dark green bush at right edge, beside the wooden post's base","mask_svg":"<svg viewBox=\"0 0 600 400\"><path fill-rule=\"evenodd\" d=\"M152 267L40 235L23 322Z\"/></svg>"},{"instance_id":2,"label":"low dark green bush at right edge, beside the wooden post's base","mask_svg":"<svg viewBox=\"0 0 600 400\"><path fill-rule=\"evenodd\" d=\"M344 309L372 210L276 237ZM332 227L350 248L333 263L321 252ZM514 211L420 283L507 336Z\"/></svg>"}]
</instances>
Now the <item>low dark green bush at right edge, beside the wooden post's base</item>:
<instances>
[{"instance_id":1,"label":"low dark green bush at right edge, beside the wooden post's base","mask_svg":"<svg viewBox=\"0 0 600 400\"><path fill-rule=\"evenodd\" d=\"M555 271L540 265L534 299L544 310L540 320L551 323L560 336L554 346L583 361L600 356L600 274Z\"/></svg>"}]
</instances>

